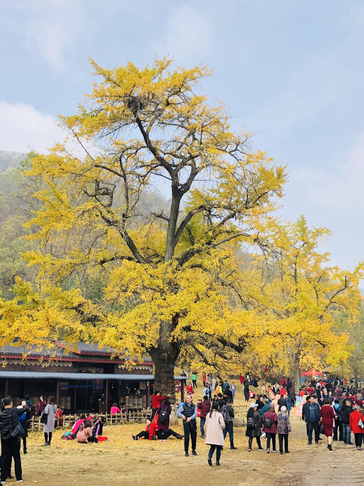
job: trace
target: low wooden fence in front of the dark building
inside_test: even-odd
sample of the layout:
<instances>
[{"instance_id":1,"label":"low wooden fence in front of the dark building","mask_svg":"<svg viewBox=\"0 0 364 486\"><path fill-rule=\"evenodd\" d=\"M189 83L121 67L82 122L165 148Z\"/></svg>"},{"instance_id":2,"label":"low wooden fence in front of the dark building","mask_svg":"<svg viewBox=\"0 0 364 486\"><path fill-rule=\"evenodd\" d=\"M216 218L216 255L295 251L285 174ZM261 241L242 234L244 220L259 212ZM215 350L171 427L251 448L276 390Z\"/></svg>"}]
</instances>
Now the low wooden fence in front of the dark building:
<instances>
[{"instance_id":1,"label":"low wooden fence in front of the dark building","mask_svg":"<svg viewBox=\"0 0 364 486\"><path fill-rule=\"evenodd\" d=\"M151 408L143 408L142 410L124 412L123 414L93 414L91 420L92 426L99 417L105 418L105 425L124 425L128 422L144 422L147 416L151 415ZM64 415L63 417L55 418L55 429L70 429L73 424L81 418L81 414ZM39 432L43 430L43 424L40 423L40 417L32 417L29 421L29 432Z\"/></svg>"}]
</instances>

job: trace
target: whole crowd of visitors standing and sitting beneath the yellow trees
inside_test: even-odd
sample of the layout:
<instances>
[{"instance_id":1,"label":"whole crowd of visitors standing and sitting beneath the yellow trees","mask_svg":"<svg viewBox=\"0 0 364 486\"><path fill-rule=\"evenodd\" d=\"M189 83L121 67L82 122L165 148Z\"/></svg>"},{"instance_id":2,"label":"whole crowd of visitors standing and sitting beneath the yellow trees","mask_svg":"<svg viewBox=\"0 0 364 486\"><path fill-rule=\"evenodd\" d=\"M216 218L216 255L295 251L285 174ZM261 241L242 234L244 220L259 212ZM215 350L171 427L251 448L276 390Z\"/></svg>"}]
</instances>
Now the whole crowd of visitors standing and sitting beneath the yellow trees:
<instances>
[{"instance_id":1,"label":"whole crowd of visitors standing and sitting beneath the yellow trees","mask_svg":"<svg viewBox=\"0 0 364 486\"><path fill-rule=\"evenodd\" d=\"M133 440L147 439L166 440L173 436L176 439L184 438L184 453L189 456L190 442L191 453L197 455L197 431L199 418L200 438L210 446L207 462L212 466L215 454L216 466L220 465L221 451L225 445L226 436L229 434L230 449L236 450L234 445L233 400L236 386L227 380L213 380L211 375L202 374L203 387L202 398L193 402L194 392L198 388L197 375L190 382L185 383L186 398L179 403L177 416L182 418L183 434L178 434L170 428L170 415L172 407L169 398L155 391L151 396L151 415L147 418L146 429L132 435ZM351 442L351 434L354 434L355 447L362 451L364 434L364 389L356 388L353 383L348 383L338 377L322 380L313 379L305 381L298 391L295 383L289 378L266 385L262 380L260 393L254 393L251 388L257 388L258 384L247 373L245 377L240 375L240 383L244 387L245 399L253 399L249 404L247 413L246 436L248 438L248 452L253 451L253 439L255 438L258 451L289 453L288 438L291 433L289 414L295 405L302 404L301 419L306 424L308 444L318 444L320 434L324 434L327 440L327 448L332 451L332 443L343 441L346 445L354 445ZM14 468L17 482L22 481L22 469L20 459L21 441L23 453L27 453L27 436L29 420L31 419L32 403L29 396L20 400L18 406L13 406L13 399L8 396L2 400L0 413L0 481L6 483L11 478L11 464L14 459ZM120 413L116 403L111 408L111 413ZM49 447L52 433L55 428L57 414L62 417L62 411L55 404L53 396L48 401L40 397L36 407L36 415L41 417L45 443L42 447ZM76 439L77 442L97 443L100 440L108 440L102 435L104 418L99 417L92 426L90 415L82 415L75 422L72 431L66 432L62 438L66 440ZM205 432L206 431L206 432ZM278 446L277 450L277 434ZM266 439L266 447L263 447L261 438ZM1 486L1 485L0 485Z\"/></svg>"}]
</instances>

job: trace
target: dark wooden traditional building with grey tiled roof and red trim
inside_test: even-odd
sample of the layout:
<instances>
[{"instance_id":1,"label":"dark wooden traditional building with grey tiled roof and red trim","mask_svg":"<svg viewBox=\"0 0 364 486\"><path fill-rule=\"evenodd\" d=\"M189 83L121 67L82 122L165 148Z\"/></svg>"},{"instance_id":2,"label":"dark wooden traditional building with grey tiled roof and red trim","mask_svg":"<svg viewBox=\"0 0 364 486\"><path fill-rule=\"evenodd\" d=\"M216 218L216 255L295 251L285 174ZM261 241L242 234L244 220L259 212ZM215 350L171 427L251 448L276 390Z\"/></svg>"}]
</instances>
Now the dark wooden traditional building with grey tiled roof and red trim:
<instances>
[{"instance_id":1,"label":"dark wooden traditional building with grey tiled roof and red trim","mask_svg":"<svg viewBox=\"0 0 364 486\"><path fill-rule=\"evenodd\" d=\"M149 357L129 370L128 358L112 358L110 349L85 343L71 348L61 342L51 352L15 343L0 349L0 356L0 398L9 394L15 405L25 395L31 397L32 409L41 395L54 395L65 413L109 413L114 402L129 409L149 405L154 383Z\"/></svg>"}]
</instances>

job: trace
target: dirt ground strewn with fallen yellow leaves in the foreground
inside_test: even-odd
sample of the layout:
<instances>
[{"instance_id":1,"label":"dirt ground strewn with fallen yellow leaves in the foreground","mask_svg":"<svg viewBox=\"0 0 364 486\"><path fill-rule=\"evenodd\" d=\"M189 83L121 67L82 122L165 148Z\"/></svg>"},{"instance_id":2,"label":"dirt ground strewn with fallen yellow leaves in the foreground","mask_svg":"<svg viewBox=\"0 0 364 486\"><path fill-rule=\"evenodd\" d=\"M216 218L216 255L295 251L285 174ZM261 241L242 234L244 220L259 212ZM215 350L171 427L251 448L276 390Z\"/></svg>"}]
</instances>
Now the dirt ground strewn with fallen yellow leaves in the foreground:
<instances>
[{"instance_id":1,"label":"dirt ground strewn with fallen yellow leaves in the foreground","mask_svg":"<svg viewBox=\"0 0 364 486\"><path fill-rule=\"evenodd\" d=\"M199 419L198 419L199 422ZM42 448L43 435L30 434L27 455L21 453L25 484L37 486L65 486L77 483L103 485L170 486L171 484L206 484L214 477L231 486L272 485L352 485L364 484L364 451L335 442L333 451L327 450L325 439L319 445L307 445L304 422L292 422L289 439L290 454L248 452L245 428L234 428L238 450L227 447L221 454L221 466L207 464L209 446L198 438L198 456L184 457L183 439L133 441L132 434L145 430L145 425L104 427L110 442L78 444L61 440L64 431L54 433L51 447ZM173 427L182 433L182 425ZM43 439L43 440L42 440ZM265 439L262 439L265 448ZM218 474L218 477L216 476ZM6 484L15 483L15 479Z\"/></svg>"}]
</instances>

